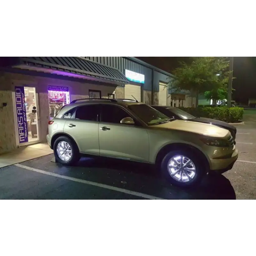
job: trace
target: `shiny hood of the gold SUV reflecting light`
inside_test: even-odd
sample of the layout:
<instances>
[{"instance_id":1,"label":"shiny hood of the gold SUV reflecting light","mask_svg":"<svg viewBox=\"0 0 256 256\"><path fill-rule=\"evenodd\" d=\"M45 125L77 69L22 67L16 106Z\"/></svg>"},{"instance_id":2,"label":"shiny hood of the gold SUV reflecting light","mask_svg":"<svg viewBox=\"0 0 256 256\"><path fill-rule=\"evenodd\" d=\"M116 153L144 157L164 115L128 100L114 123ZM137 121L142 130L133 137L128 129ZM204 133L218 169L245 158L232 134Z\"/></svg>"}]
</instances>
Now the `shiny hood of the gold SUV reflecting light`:
<instances>
[{"instance_id":1,"label":"shiny hood of the gold SUV reflecting light","mask_svg":"<svg viewBox=\"0 0 256 256\"><path fill-rule=\"evenodd\" d=\"M165 124L153 125L151 127L192 132L213 138L223 138L229 134L228 130L212 124L197 123L185 120L175 120Z\"/></svg>"}]
</instances>

